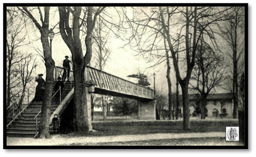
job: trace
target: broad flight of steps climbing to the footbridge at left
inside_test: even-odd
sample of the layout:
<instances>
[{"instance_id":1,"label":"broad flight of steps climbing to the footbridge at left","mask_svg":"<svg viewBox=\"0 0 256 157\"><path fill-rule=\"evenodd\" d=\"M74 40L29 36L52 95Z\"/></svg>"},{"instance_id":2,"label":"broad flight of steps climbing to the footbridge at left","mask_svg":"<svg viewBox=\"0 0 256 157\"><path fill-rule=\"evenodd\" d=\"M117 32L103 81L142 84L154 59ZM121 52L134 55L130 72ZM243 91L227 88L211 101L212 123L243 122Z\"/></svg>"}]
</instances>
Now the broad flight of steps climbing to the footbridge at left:
<instances>
[{"instance_id":1,"label":"broad flight of steps climbing to the footbridge at left","mask_svg":"<svg viewBox=\"0 0 256 157\"><path fill-rule=\"evenodd\" d=\"M56 81L53 83L53 88ZM72 88L74 83L72 82ZM70 82L65 83L63 92L61 93L61 100L63 100L67 94L71 91ZM54 94L54 93L53 93ZM51 114L54 113L56 108L60 104L60 100L55 101L55 97L52 99ZM36 135L36 119L34 117L42 108L42 101L31 102L27 108L12 122L6 129L6 135L11 137L34 137ZM38 123L40 121L40 114L37 117ZM53 131L50 129L50 131Z\"/></svg>"}]
</instances>

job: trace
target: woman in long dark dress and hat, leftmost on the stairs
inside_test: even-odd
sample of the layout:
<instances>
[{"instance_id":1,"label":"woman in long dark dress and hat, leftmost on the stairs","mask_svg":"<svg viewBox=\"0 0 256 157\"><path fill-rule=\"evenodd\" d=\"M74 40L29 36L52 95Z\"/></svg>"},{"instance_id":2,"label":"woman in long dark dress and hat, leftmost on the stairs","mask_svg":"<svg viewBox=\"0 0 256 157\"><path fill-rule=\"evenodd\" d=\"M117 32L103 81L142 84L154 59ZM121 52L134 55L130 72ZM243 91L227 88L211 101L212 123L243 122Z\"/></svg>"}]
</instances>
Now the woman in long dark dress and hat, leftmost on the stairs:
<instances>
[{"instance_id":1,"label":"woman in long dark dress and hat, leftmost on the stairs","mask_svg":"<svg viewBox=\"0 0 256 157\"><path fill-rule=\"evenodd\" d=\"M44 78L42 78L43 74L38 74L36 78L37 87L36 87L36 94L34 95L34 101L43 101L44 98Z\"/></svg>"}]
</instances>

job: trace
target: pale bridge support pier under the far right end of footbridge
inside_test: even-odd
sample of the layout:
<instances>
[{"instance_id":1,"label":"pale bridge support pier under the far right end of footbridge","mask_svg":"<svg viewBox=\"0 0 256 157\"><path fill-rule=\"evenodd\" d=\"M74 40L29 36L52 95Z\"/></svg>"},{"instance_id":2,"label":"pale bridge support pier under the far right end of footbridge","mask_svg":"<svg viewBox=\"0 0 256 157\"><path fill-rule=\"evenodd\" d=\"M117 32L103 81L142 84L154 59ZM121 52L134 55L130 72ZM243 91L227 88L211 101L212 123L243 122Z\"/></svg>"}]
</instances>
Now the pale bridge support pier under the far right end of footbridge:
<instances>
[{"instance_id":1,"label":"pale bridge support pier under the far right end of footbridge","mask_svg":"<svg viewBox=\"0 0 256 157\"><path fill-rule=\"evenodd\" d=\"M155 105L156 100L138 100L139 104L139 119L140 120L155 120Z\"/></svg>"}]
</instances>

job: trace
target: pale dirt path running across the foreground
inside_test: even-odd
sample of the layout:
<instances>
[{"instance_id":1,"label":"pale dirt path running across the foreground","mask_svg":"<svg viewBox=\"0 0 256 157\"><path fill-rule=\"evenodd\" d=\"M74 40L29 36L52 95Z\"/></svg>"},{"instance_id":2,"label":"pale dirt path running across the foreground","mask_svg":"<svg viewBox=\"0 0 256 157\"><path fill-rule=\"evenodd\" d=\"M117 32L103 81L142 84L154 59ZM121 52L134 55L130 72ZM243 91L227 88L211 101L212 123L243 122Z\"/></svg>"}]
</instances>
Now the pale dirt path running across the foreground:
<instances>
[{"instance_id":1,"label":"pale dirt path running across the foreground","mask_svg":"<svg viewBox=\"0 0 256 157\"><path fill-rule=\"evenodd\" d=\"M161 140L171 138L195 138L195 137L225 137L225 132L201 132L182 134L147 134L147 135L119 135L105 137L62 137L53 135L51 139L34 139L21 137L6 137L7 146L53 146L72 143L101 143L101 142L125 142L143 140Z\"/></svg>"}]
</instances>

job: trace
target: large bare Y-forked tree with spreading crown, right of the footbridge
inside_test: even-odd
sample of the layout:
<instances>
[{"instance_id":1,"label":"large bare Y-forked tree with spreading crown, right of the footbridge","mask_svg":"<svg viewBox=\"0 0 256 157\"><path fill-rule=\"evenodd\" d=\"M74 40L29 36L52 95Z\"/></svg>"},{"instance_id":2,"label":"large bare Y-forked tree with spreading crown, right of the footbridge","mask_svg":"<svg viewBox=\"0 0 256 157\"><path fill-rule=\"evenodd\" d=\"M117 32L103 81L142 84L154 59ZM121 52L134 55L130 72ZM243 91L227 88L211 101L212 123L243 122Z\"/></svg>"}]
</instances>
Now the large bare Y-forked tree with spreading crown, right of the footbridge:
<instances>
[{"instance_id":1,"label":"large bare Y-forked tree with spreading crown, right of the footbridge","mask_svg":"<svg viewBox=\"0 0 256 157\"><path fill-rule=\"evenodd\" d=\"M164 34L168 50L171 52L176 77L182 88L183 129L185 130L190 129L188 84L195 65L196 47L199 45L202 34L205 34L207 41L211 43L210 47L216 47L212 25L217 25L217 21L224 19L226 14L223 13L226 10L228 9L217 7L159 7L150 8L150 13L142 9L139 10L139 14L141 16L143 14L144 19L130 20L127 18L133 26L130 43L131 40L135 40L140 50L143 46L149 47L150 45L151 49L147 51L149 56L153 55L155 45L160 42L159 36L162 36L162 33ZM159 25L161 26L160 30L158 29ZM178 39L173 37L173 30L179 32ZM145 37L147 31L152 33ZM147 42L143 40L145 38ZM177 44L177 41L181 42ZM139 45L139 43L144 45ZM148 45L148 43L150 44ZM177 45L181 45L179 48L181 50L176 51L175 47ZM185 67L184 69L181 69L177 62L177 53L179 53L179 58L183 58L180 64Z\"/></svg>"}]
</instances>

